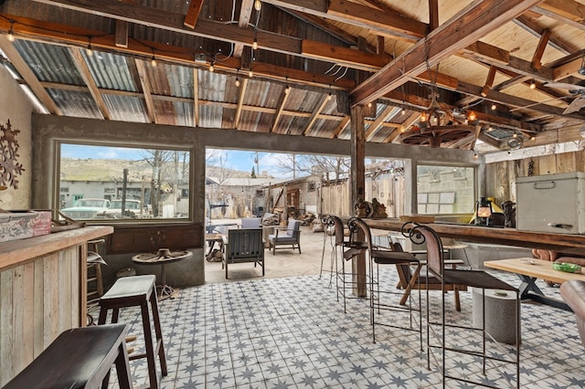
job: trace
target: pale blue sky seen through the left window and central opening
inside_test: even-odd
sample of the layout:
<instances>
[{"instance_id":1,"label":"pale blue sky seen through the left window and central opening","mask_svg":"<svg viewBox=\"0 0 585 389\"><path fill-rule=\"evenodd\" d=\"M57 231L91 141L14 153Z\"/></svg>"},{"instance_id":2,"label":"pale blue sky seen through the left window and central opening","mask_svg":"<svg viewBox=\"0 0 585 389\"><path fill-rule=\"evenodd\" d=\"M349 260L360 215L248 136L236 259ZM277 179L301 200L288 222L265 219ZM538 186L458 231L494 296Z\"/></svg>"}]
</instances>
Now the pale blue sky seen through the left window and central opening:
<instances>
[{"instance_id":1,"label":"pale blue sky seen through the left window and central opening","mask_svg":"<svg viewBox=\"0 0 585 389\"><path fill-rule=\"evenodd\" d=\"M210 152L211 151L208 150L207 155L209 155ZM292 178L292 173L282 172L282 169L279 167L279 156L282 156L282 154L279 153L258 152L258 165L254 162L256 152L252 151L218 150L215 152L215 155L216 160L218 155L220 155L221 158L223 158L225 161L225 166L229 169L236 169L251 173L253 166L256 173L267 172L269 175L275 178ZM61 158L94 158L136 161L143 159L143 156L140 153L140 149L112 146L61 144Z\"/></svg>"}]
</instances>

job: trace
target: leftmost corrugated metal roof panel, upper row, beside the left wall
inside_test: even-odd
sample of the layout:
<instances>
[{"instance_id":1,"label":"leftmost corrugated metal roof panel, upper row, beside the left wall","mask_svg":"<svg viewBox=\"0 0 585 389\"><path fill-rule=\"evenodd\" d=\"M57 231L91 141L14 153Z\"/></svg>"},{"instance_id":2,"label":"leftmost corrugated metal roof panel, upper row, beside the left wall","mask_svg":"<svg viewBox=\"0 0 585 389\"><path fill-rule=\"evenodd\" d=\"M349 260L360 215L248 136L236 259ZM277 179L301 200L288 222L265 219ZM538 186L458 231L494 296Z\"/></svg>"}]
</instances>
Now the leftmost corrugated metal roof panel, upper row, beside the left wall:
<instances>
[{"instance_id":1,"label":"leftmost corrugated metal roof panel, upper row, beside the left wall","mask_svg":"<svg viewBox=\"0 0 585 389\"><path fill-rule=\"evenodd\" d=\"M85 85L69 48L21 39L15 41L15 47L39 81Z\"/></svg>"}]
</instances>

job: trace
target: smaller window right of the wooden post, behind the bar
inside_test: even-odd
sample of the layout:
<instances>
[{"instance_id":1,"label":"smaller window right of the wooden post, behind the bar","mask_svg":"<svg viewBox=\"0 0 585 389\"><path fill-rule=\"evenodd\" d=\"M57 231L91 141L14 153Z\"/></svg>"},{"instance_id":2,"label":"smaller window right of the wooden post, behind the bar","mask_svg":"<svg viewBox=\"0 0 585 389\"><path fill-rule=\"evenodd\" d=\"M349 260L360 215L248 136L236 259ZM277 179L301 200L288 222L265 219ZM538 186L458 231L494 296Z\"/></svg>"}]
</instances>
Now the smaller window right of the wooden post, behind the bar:
<instances>
[{"instance_id":1,"label":"smaller window right of the wooden post, behind the bar","mask_svg":"<svg viewBox=\"0 0 585 389\"><path fill-rule=\"evenodd\" d=\"M475 197L475 169L473 167L417 166L419 214L473 213Z\"/></svg>"}]
</instances>

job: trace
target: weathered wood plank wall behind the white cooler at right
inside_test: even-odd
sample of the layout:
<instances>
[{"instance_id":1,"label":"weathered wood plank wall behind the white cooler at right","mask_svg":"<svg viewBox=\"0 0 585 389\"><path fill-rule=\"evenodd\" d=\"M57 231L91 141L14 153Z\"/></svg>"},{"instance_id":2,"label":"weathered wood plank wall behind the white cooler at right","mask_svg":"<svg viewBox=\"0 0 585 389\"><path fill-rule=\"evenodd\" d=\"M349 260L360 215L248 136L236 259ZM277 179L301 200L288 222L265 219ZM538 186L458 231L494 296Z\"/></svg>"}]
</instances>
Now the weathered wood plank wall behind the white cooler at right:
<instances>
[{"instance_id":1,"label":"weathered wood plank wall behind the white cooler at right","mask_svg":"<svg viewBox=\"0 0 585 389\"><path fill-rule=\"evenodd\" d=\"M497 205L516 202L516 178L531 175L585 172L585 152L564 152L516 161L488 163L485 195L495 197Z\"/></svg>"}]
</instances>

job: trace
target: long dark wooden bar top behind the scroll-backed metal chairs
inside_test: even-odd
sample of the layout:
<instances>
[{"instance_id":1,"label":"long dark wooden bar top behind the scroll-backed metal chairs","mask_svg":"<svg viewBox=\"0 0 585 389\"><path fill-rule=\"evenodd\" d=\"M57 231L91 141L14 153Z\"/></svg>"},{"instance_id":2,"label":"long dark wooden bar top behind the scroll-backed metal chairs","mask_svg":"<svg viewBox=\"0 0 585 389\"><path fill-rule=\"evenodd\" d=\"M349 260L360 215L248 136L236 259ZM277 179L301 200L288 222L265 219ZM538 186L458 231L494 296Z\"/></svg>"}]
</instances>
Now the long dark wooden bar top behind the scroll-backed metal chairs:
<instances>
[{"instance_id":1,"label":"long dark wooden bar top behind the scroll-backed metal chairs","mask_svg":"<svg viewBox=\"0 0 585 389\"><path fill-rule=\"evenodd\" d=\"M364 219L370 228L400 231L405 222L399 219ZM451 223L423 223L431 226L441 237L494 245L544 248L585 257L585 235L521 231L516 228L497 228Z\"/></svg>"}]
</instances>

